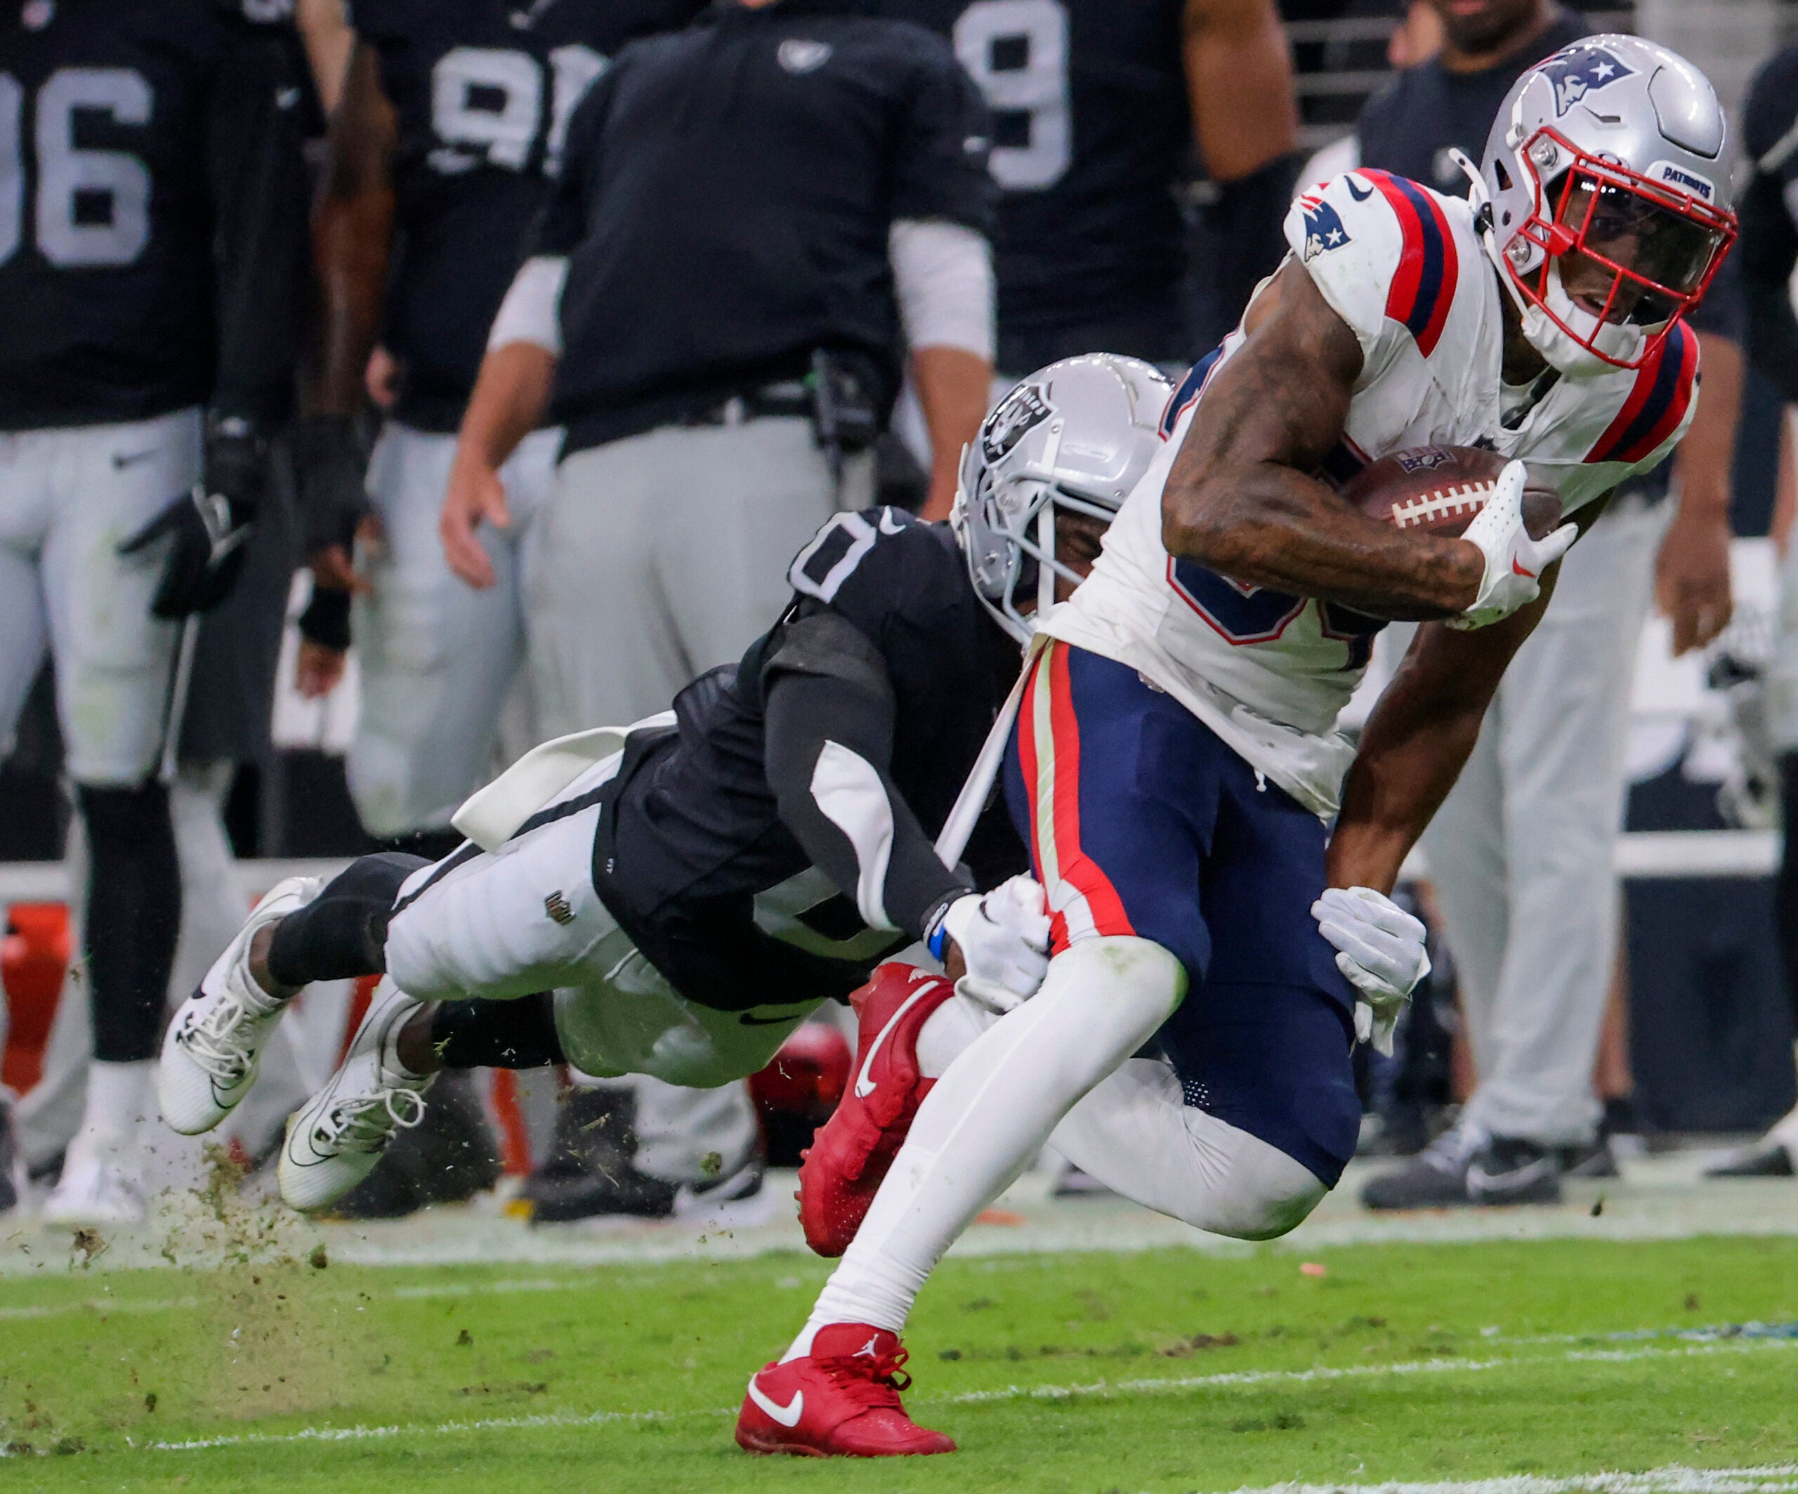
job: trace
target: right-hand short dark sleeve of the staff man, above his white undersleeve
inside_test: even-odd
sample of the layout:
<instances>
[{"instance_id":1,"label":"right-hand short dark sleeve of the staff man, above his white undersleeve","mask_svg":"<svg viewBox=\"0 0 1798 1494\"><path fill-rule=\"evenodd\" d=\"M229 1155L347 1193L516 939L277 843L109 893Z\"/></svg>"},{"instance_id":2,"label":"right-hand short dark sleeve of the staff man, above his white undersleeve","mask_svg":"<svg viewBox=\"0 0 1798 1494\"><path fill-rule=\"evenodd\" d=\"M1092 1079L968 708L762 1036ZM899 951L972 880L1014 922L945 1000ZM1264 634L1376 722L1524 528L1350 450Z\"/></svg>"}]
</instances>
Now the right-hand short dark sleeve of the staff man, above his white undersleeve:
<instances>
[{"instance_id":1,"label":"right-hand short dark sleeve of the staff man, above his white undersleeve","mask_svg":"<svg viewBox=\"0 0 1798 1494\"><path fill-rule=\"evenodd\" d=\"M894 27L924 52L908 90L892 164L890 214L946 218L991 234L998 183L987 171L992 120L975 81L940 38L915 27Z\"/></svg>"}]
</instances>

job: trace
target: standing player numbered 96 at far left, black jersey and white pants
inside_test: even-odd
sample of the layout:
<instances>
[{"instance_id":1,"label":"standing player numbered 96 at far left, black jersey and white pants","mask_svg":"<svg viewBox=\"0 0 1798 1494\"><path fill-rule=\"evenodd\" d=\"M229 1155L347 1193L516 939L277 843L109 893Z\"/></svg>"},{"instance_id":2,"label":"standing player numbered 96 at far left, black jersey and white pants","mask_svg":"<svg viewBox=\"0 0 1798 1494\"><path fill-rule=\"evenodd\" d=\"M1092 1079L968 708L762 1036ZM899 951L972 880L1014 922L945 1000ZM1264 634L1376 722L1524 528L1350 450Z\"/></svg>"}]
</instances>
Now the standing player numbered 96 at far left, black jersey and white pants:
<instances>
[{"instance_id":1,"label":"standing player numbered 96 at far left, black jersey and white pants","mask_svg":"<svg viewBox=\"0 0 1798 1494\"><path fill-rule=\"evenodd\" d=\"M291 394L302 104L275 0L0 16L0 741L49 647L90 858L61 1223L142 1212L182 915L158 764L183 620L236 579Z\"/></svg>"}]
</instances>

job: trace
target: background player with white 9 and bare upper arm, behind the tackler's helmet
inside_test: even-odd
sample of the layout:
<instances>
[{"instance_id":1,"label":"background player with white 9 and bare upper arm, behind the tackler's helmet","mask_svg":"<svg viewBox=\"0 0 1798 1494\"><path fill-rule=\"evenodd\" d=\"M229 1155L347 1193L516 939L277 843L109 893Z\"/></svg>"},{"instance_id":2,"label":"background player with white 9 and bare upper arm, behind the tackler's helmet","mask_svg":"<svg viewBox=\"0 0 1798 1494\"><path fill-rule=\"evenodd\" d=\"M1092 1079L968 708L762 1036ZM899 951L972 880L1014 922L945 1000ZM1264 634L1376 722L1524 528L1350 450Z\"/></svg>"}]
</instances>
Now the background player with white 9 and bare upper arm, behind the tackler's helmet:
<instances>
[{"instance_id":1,"label":"background player with white 9 and bare upper arm, behind the tackler's helmet","mask_svg":"<svg viewBox=\"0 0 1798 1494\"><path fill-rule=\"evenodd\" d=\"M948 36L992 111L1001 374L1093 347L1190 361L1174 192L1194 135L1226 322L1280 262L1298 111L1273 0L868 5Z\"/></svg>"}]
</instances>

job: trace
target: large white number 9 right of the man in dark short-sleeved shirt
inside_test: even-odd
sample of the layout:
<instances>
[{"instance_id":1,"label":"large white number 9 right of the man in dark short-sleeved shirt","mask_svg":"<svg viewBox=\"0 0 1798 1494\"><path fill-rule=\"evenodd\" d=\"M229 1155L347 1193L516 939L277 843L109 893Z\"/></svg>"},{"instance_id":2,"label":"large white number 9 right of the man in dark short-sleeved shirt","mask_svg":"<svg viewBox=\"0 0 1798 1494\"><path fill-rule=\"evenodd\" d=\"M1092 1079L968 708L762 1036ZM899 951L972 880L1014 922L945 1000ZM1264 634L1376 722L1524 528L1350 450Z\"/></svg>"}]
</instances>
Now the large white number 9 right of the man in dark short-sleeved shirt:
<instances>
[{"instance_id":1,"label":"large white number 9 right of the man in dark short-sleeved shirt","mask_svg":"<svg viewBox=\"0 0 1798 1494\"><path fill-rule=\"evenodd\" d=\"M992 176L1043 192L1073 160L1068 7L1061 0L975 0L955 22L955 56L992 110Z\"/></svg>"}]
</instances>

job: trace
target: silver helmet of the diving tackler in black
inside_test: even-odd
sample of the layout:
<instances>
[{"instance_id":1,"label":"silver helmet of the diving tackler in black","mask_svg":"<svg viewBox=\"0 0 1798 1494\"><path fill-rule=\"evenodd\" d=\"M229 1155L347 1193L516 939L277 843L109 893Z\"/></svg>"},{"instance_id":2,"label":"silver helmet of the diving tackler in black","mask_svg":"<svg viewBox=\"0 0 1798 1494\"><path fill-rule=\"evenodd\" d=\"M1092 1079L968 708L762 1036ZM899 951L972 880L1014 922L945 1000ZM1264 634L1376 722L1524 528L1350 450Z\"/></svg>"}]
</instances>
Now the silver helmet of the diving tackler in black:
<instances>
[{"instance_id":1,"label":"silver helmet of the diving tackler in black","mask_svg":"<svg viewBox=\"0 0 1798 1494\"><path fill-rule=\"evenodd\" d=\"M1019 644L1030 642L1030 618L1018 606L1027 570L1036 572L1037 611L1054 602L1057 575L1081 579L1055 559L1055 511L1111 521L1154 460L1172 392L1138 358L1063 358L994 405L962 451L951 521L975 591Z\"/></svg>"}]
</instances>

